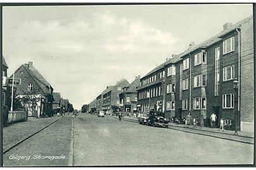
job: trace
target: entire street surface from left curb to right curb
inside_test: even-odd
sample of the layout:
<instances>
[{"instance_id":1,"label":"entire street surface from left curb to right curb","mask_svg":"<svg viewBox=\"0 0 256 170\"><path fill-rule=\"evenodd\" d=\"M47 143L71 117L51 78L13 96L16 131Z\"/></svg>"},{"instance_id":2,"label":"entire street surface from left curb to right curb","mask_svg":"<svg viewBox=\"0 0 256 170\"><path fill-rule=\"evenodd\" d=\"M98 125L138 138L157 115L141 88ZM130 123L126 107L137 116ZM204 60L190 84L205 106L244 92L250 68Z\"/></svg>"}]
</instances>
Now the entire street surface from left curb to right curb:
<instances>
[{"instance_id":1,"label":"entire street surface from left curb to right curb","mask_svg":"<svg viewBox=\"0 0 256 170\"><path fill-rule=\"evenodd\" d=\"M6 152L4 166L253 163L252 144L119 122L113 116L99 118L87 113L74 118L72 134L72 119L66 115Z\"/></svg>"}]
</instances>

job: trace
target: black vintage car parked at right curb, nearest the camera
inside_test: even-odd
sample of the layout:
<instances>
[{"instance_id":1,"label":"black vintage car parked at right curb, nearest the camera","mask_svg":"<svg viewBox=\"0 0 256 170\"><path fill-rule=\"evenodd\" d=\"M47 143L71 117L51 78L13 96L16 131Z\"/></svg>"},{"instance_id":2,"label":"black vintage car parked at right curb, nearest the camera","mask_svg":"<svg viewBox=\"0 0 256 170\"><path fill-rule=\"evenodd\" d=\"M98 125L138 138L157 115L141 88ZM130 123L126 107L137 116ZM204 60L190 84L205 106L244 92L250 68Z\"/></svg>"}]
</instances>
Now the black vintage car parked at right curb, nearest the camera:
<instances>
[{"instance_id":1,"label":"black vintage car parked at right curb, nearest the camera","mask_svg":"<svg viewBox=\"0 0 256 170\"><path fill-rule=\"evenodd\" d=\"M167 119L162 111L150 111L148 125L152 127L166 127L168 128L169 119Z\"/></svg>"}]
</instances>

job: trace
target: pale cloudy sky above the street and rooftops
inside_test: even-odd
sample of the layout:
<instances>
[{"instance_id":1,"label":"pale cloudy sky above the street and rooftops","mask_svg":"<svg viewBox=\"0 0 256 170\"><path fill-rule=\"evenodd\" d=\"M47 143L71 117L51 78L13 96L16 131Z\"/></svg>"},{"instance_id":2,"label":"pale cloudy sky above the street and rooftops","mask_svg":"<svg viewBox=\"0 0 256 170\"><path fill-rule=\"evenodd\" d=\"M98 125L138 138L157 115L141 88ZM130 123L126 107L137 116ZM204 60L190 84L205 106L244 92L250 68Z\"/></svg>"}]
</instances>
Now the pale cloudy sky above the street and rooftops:
<instances>
[{"instance_id":1,"label":"pale cloudy sky above the street and rooftops","mask_svg":"<svg viewBox=\"0 0 256 170\"><path fill-rule=\"evenodd\" d=\"M3 55L9 76L32 61L80 109L251 14L251 4L4 6Z\"/></svg>"}]
</instances>

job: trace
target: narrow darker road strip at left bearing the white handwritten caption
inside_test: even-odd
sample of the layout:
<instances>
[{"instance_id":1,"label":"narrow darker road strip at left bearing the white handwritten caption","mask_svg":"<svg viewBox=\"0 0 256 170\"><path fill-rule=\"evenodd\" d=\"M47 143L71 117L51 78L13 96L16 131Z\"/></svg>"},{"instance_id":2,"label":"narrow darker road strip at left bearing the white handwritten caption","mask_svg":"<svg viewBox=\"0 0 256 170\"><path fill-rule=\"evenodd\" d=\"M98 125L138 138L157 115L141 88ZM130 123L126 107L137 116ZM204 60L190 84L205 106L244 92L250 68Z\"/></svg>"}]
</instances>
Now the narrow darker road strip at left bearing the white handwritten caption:
<instances>
[{"instance_id":1,"label":"narrow darker road strip at left bearing the white handwritten caption","mask_svg":"<svg viewBox=\"0 0 256 170\"><path fill-rule=\"evenodd\" d=\"M71 122L72 117L65 116L9 150L4 166L69 166Z\"/></svg>"}]
</instances>

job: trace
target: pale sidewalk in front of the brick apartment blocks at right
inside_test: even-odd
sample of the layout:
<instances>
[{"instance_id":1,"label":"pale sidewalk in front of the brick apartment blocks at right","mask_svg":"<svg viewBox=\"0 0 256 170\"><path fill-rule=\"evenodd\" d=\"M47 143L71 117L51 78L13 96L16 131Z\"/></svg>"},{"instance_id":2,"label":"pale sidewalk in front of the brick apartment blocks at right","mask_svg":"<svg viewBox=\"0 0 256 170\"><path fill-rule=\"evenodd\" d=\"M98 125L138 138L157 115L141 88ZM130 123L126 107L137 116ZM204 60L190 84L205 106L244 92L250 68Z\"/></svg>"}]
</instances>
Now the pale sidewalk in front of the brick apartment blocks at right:
<instances>
[{"instance_id":1,"label":"pale sidewalk in front of the brick apartment blocks at right","mask_svg":"<svg viewBox=\"0 0 256 170\"><path fill-rule=\"evenodd\" d=\"M114 116L115 117L115 116ZM134 122L138 123L137 118L125 116L123 117L123 120L126 120L128 122ZM231 130L219 130L219 128L210 128L210 127L193 127L183 125L183 124L176 124L176 123L169 123L169 128L173 130L180 130L182 132L188 132L188 133L195 133L199 135L207 135L210 137L217 137L219 139L226 139L226 140L233 140L236 142L243 142L247 144L254 144L254 133L252 132L238 132L238 135L234 135L235 131Z\"/></svg>"}]
</instances>

